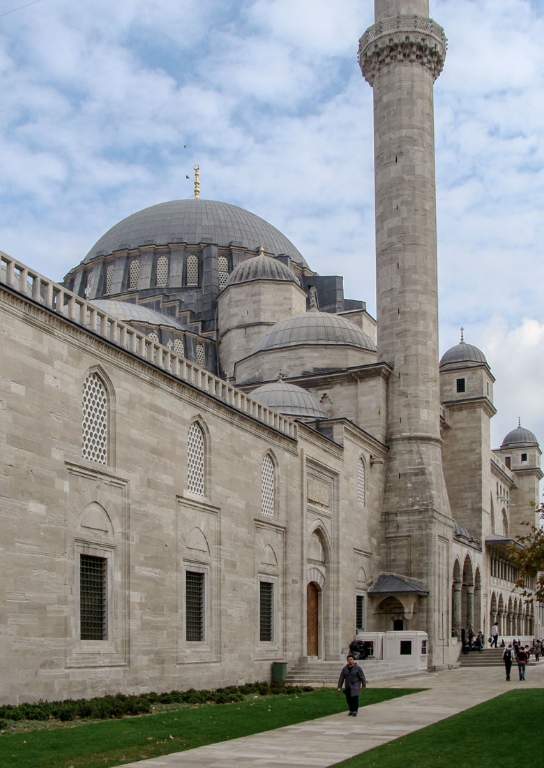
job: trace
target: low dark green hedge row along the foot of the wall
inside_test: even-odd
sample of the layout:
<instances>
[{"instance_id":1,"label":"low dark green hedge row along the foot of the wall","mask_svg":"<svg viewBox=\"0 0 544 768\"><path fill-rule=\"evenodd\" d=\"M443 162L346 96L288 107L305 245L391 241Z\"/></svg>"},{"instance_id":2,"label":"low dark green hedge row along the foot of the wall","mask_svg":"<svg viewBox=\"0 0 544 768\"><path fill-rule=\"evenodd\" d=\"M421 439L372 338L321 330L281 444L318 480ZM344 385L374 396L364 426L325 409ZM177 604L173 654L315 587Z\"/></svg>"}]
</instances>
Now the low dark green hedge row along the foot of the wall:
<instances>
[{"instance_id":1,"label":"low dark green hedge row along the foot of the wall","mask_svg":"<svg viewBox=\"0 0 544 768\"><path fill-rule=\"evenodd\" d=\"M270 694L298 694L310 687L285 685L282 683L254 683L250 685L229 686L217 690L171 690L168 694L140 694L127 696L116 694L94 699L66 699L64 701L43 701L22 703L18 707L6 705L0 707L3 720L77 720L90 717L94 720L108 720L110 717L145 714L152 710L153 704L226 704L242 701L248 694L260 696Z\"/></svg>"}]
</instances>

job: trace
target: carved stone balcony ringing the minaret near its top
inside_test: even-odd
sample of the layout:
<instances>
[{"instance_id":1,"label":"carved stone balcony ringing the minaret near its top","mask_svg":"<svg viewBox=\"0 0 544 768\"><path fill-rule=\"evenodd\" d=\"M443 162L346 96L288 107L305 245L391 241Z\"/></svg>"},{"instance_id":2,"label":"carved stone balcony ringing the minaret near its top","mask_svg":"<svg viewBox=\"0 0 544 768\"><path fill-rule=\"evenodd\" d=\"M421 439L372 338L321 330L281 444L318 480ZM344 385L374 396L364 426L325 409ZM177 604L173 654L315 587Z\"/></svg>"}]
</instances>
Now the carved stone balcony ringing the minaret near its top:
<instances>
[{"instance_id":1,"label":"carved stone balcony ringing the minaret near its top","mask_svg":"<svg viewBox=\"0 0 544 768\"><path fill-rule=\"evenodd\" d=\"M359 65L364 79L374 83L378 70L397 61L414 61L436 80L446 58L447 38L432 18L395 16L367 29L359 40Z\"/></svg>"}]
</instances>

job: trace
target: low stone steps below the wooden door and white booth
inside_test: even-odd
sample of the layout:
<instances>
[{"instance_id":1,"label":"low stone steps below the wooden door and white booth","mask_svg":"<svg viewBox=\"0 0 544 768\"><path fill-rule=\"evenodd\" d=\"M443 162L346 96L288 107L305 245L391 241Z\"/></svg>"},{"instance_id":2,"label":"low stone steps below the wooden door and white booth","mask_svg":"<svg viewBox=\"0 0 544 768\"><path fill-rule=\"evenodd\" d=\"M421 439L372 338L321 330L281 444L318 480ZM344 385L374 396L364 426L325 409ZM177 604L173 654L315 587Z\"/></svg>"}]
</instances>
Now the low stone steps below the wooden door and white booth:
<instances>
[{"instance_id":1,"label":"low stone steps below the wooden door and white booth","mask_svg":"<svg viewBox=\"0 0 544 768\"><path fill-rule=\"evenodd\" d=\"M358 661L357 664L363 670L368 683L427 673L427 670L409 670L405 664L397 664L394 661L366 659ZM335 688L344 666L345 657L339 658L338 661L322 661L321 659L308 660L308 657L303 656L294 664L288 665L285 682L291 685Z\"/></svg>"}]
</instances>

